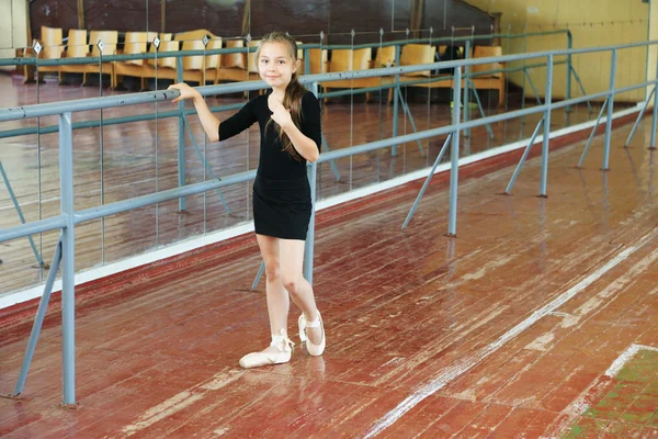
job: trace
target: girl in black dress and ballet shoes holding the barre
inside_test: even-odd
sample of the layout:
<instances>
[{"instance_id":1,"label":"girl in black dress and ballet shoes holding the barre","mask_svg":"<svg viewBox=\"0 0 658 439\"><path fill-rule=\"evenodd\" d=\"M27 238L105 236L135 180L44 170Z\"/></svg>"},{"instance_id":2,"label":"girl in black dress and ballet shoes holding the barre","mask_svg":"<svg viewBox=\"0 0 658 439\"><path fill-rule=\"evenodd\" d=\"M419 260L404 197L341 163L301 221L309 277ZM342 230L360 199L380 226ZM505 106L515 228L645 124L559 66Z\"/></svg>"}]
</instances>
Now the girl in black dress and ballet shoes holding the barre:
<instances>
[{"instance_id":1,"label":"girl in black dress and ballet shoes holding the barre","mask_svg":"<svg viewBox=\"0 0 658 439\"><path fill-rule=\"evenodd\" d=\"M306 161L319 157L320 108L316 97L297 81L297 45L287 34L273 32L257 50L259 74L272 88L219 123L195 89L177 83L182 99L192 99L212 142L225 140L258 122L260 158L253 183L253 222L265 261L268 313L272 342L261 352L240 359L242 368L290 361L287 337L290 296L302 309L299 338L311 356L325 350L325 328L313 288L303 277L304 241L311 213Z\"/></svg>"}]
</instances>

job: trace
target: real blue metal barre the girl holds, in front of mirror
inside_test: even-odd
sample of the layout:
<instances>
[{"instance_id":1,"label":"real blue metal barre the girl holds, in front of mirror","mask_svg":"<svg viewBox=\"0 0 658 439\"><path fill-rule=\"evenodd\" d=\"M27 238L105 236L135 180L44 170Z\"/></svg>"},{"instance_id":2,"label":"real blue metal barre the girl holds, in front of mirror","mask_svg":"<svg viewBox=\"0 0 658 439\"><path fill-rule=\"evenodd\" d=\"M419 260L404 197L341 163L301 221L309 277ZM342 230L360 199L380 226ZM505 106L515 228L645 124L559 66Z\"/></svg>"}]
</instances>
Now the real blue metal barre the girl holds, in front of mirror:
<instances>
[{"instance_id":1,"label":"real blue metal barre the girl holds, in front of mirror","mask_svg":"<svg viewBox=\"0 0 658 439\"><path fill-rule=\"evenodd\" d=\"M619 50L632 47L642 46L654 46L658 44L658 41L626 44L609 47L597 47L588 49L570 49L570 50L552 50L541 52L532 54L520 54L520 55L508 55L497 58L477 58L477 59L463 59L453 60L445 63L433 63L427 65L417 65L408 67L389 67L389 68L375 68L368 70L359 70L350 72L336 72L336 74L322 74L322 75L310 75L300 78L300 82L305 83L310 90L317 93L317 87L319 81L332 81L349 78L365 78L365 77L378 77L378 76L390 76L390 75L404 75L415 71L431 70L436 68L451 68L454 69L454 90L453 100L455 105L453 106L453 124L442 126L439 128L432 128L421 131L412 134L402 136L394 136L386 139L381 139L359 146L353 146L340 150L325 153L320 155L320 158L309 165L309 179L311 185L311 194L316 193L316 170L317 166L321 162L327 162L333 159L349 157L356 154L373 151L376 149L388 148L397 144L406 142L415 142L417 139L424 139L435 137L440 135L450 135L451 146L451 178L450 178L450 214L449 214L449 227L447 235L456 236L456 224L457 224L457 184L458 184L458 159L460 159L460 133L467 128L485 125L487 123L500 122L513 117L520 117L533 113L542 113L544 127L544 138L542 146L542 167L541 167L541 182L540 182L540 194L545 196L547 191L547 171L548 171L548 138L551 127L551 111L560 108L567 108L569 105L576 105L578 103L587 102L588 100L606 98L608 100L608 121L606 121L606 136L604 144L604 159L603 169L609 168L609 151L610 151L610 132L612 127L612 109L614 103L615 94L623 93L629 90L642 89L648 86L658 85L658 78L647 80L645 82L616 89L614 86L614 71L616 69L616 53ZM560 102L553 102L552 99L552 83L553 83L553 67L556 56L561 55L576 55L593 52L611 52L611 87L604 92L593 93L575 99L567 99ZM547 79L546 79L546 99L541 105L511 111L503 114L494 116L487 116L474 121L462 121L461 117L461 97L462 97L462 70L464 66L473 66L478 64L490 64L501 61L514 61L533 58L546 58L547 65ZM262 81L240 82L224 86L208 86L200 87L198 91L202 95L208 94L223 94L236 91L245 90L258 90L265 88ZM189 196L191 194L203 193L211 190L228 187L230 184L246 182L252 180L256 176L256 171L251 170L248 172L241 172L224 178L223 180L208 180L201 183L181 185L175 189L151 193L144 196L138 196L129 200L124 200L115 203L105 205L98 205L93 209L87 209L83 211L76 211L73 206L73 180L72 180L72 123L71 113L89 110L109 109L115 106L125 106L149 102L161 102L167 101L179 95L177 90L171 91L158 91L158 92L145 92L135 93L127 95L106 97L102 99L84 99L77 101L57 102L37 104L22 108L3 109L0 110L0 122L14 121L27 117L39 117L48 115L59 116L59 173L60 173L60 214L35 222L29 222L24 225L15 227L0 229L0 243L10 239L24 238L34 234L44 233L48 230L60 229L60 238L56 247L55 257L52 263L50 272L45 285L45 292L42 296L39 304L39 311L35 319L33 331L29 341L29 348L24 357L24 361L21 368L19 381L14 389L14 395L19 395L23 390L23 384L30 367L30 361L34 352L34 347L41 329L41 322L43 320L43 314L47 307L48 299L52 293L53 280L57 273L57 268L61 262L63 270L63 368L64 368L64 404L75 404L75 232L76 226L80 223L88 222L94 218L102 218L109 215L117 214L121 212L127 212L134 209L143 207L150 204L164 202L168 200L175 200ZM658 116L658 105L654 105L653 113L653 125L651 125L651 147L656 146L656 120ZM181 113L183 109L180 109ZM639 121L639 119L638 119ZM594 127L595 131L597 127ZM538 132L535 130L535 132ZM532 147L532 142L527 146L527 150ZM445 151L447 142L442 149L441 155ZM520 169L523 159L520 161ZM432 172L428 176L428 181L431 179ZM426 184L427 187L427 184ZM424 187L423 187L424 190ZM419 194L419 198L422 195ZM315 216L311 216L309 225L308 238L306 240L306 258L305 258L305 277L313 281L313 256L314 256L314 238L315 238Z\"/></svg>"}]
</instances>

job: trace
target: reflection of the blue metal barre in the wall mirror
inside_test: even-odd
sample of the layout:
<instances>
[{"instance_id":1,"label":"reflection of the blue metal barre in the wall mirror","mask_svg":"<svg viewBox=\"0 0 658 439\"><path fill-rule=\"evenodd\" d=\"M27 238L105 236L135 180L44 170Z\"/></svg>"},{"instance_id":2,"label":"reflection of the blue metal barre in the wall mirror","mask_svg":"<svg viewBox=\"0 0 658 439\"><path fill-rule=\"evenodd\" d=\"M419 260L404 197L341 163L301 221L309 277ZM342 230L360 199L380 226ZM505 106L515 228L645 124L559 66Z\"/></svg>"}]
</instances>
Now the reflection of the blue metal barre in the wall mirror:
<instances>
[{"instance_id":1,"label":"reflection of the blue metal barre in the wall mirror","mask_svg":"<svg viewBox=\"0 0 658 439\"><path fill-rule=\"evenodd\" d=\"M545 32L530 32L530 33L521 33L521 34L475 34L475 29L470 27L472 30L472 35L468 36L454 36L454 29L453 29L453 36L447 36L447 37L432 37L433 34L433 30L430 29L429 30L429 37L426 38L409 38L409 30L407 30L407 38L405 40L397 40L397 41L390 41L390 42L384 42L384 36L385 33L383 30L379 31L378 36L379 36L379 42L378 43L368 43L368 44L359 44L359 45L354 45L354 38L358 36L358 34L355 32L352 31L351 36L352 36L352 44L350 45L322 45L321 42L325 40L326 36L328 35L324 35L322 33L320 33L318 35L318 38L320 41L320 44L303 44L300 45L300 48L304 50L305 55L304 55L304 61L306 64L306 71L309 71L309 49L313 48L321 48L322 50L325 49L361 49L361 48L373 48L373 47L377 47L378 49L383 48L383 47L395 47L395 60L394 64L399 66L400 65L400 48L407 44L428 44L428 45L435 45L435 44L441 44L441 43L446 43L446 44L454 44L454 45L460 45L460 44L464 44L465 45L465 57L466 59L468 59L468 57L470 56L470 44L475 43L475 42L480 42L480 41L487 41L487 40L492 40L492 38L503 38L503 40L527 40L529 37L543 37L543 36L552 36L552 35L566 35L567 40L567 48L571 47L572 44L572 38L571 38L571 33L568 30L556 30L556 31L545 31ZM248 35L245 38L247 42L251 41L251 36ZM202 41L204 43L204 45L207 44L207 40L203 40ZM19 64L19 65L34 65L37 67L39 66L58 66L58 65L66 65L66 64L95 64L98 63L99 66L102 66L103 63L111 63L111 61L115 61L115 60L134 60L134 59L158 59L158 58L167 58L167 57L173 57L177 58L179 61L177 63L177 81L183 81L184 78L184 71L183 71L183 64L180 63L180 60L182 59L182 57L184 56L191 56L191 55L196 55L196 56L203 56L203 60L205 63L205 56L207 55L214 55L214 54L235 54L235 53L252 53L256 50L256 47L238 47L238 48L222 48L222 49L209 49L209 50L179 50L179 52L158 52L156 48L155 53L147 53L147 54L131 54L131 55L109 55L109 56L104 56L102 54L102 50L100 52L100 56L99 57L80 57L80 58L59 58L59 59L39 59L38 56L37 57L27 57L27 58L12 58L12 59L0 59L0 65L11 65L11 64ZM37 54L38 55L38 54ZM580 82L580 79L578 77L578 75L576 74L575 68L572 67L571 63L570 63L570 56L566 57L566 60L561 60L561 61L554 61L554 66L557 65L567 65L567 72L568 72L568 77L567 77L567 98L570 97L570 81L571 81L571 77L574 77L577 81L577 83L580 86L580 89L582 91L582 94L585 94L585 88L582 86L582 83ZM531 88L535 91L536 93L536 88L534 86L534 83L532 82L532 78L529 74L529 70L531 69L537 69L537 68L544 68L546 67L545 63L537 63L537 64L533 64L533 65L526 65L524 63L523 66L520 67L506 67L506 68L499 68L499 69L490 69L487 71L477 71L477 72L472 72L468 70L468 68L466 68L466 71L464 72L464 81L465 81L465 88L466 89L470 89L470 93L464 93L464 105L463 105L463 117L465 121L468 121L470 119L470 105L468 102L468 99L470 95L475 97L475 100L477 102L477 108L479 110L479 114L485 117L486 116L486 110L483 106L481 100L479 98L479 93L477 91L477 88L475 87L475 85L472 82L472 79L476 79L477 77L486 77L486 76L490 76L490 75L497 75L497 74L511 74L511 72L515 72L515 71L523 71L524 74L524 80L525 78L527 78L527 81L531 86ZM157 69L158 66L156 64L156 77L157 77ZM205 71L205 68L203 69ZM37 70L38 71L38 70ZM101 69L99 69L99 71L101 71ZM572 74L572 75L571 75ZM101 72L99 72L99 75L102 75ZM248 75L248 72L246 71L246 75ZM399 132L399 109L401 106L402 109L402 113L404 115L407 117L407 120L410 123L410 126L412 127L412 130L415 132L417 132L417 125L416 125L416 121L415 117L409 109L409 105L407 104L407 102L405 101L405 98L402 95L402 88L406 87L415 87L415 86L430 86L432 85L432 82L435 81L453 81L454 80L454 76L453 75L441 75L434 78L426 78L426 79L411 79L409 77L405 78L404 83L401 83L399 81L399 76L395 76L395 80L394 81L384 81L384 82L379 82L377 86L375 87L368 87L368 88L350 88L347 90L340 90L340 91L329 91L329 92L319 92L318 93L318 98L324 99L324 98L336 98L336 97L342 97L342 95L350 95L350 94L360 94L360 93L368 93L368 92L374 92L374 91L382 91L382 90L387 90L387 89L393 89L394 90L394 94L393 94L393 137L398 135ZM156 88L157 88L157 82L156 82ZM102 95L102 91L101 91L101 95ZM541 103L538 95L537 95L537 101ZM38 86L37 86L37 101L38 101ZM588 106L590 106L590 113L591 113L591 105L590 102L587 102ZM239 109L241 105L243 105L243 103L231 103L231 104L224 104L224 105L219 105L219 106L213 106L211 109L211 111L213 112L220 112L220 111L234 111ZM522 89L522 99L521 99L521 108L523 109L525 105L525 88ZM569 108L566 109L567 112L569 112ZM177 160L177 166L178 166L178 179L179 179L179 185L183 185L184 182L186 181L186 169L185 169L185 160L184 160L184 149L185 149L185 130L188 130L188 134L190 135L190 138L192 139L192 144L194 147L194 150L197 155L197 157L200 158L200 160L202 161L202 164L204 165L204 168L207 169L208 175L211 177L214 178L214 173L212 168L207 165L207 161L205 160L204 155L202 154L202 150L200 148L200 146L196 144L196 142L194 140L194 137L191 133L190 130L190 125L186 121L188 115L190 114L195 114L195 110L184 110L184 104L181 102L179 104L178 110L175 111L158 111L156 109L156 113L144 113L144 114L134 114L134 115L127 115L127 116L121 116L121 117L104 117L103 113L101 111L101 116L98 120L87 120L87 121L79 121L72 124L72 130L83 130L83 128L92 128L92 127L104 127L104 126L112 126L112 125L118 125L118 124L125 124L125 123L134 123L134 122L143 122L143 121L152 121L152 120L160 120L160 119L168 119L168 117L177 117L178 119L178 143L177 143L177 147L178 147L178 157L179 160ZM486 128L489 133L489 136L491 139L494 139L494 130L491 128L491 126L489 124L486 125ZM41 135L45 135L45 134L52 134L52 133L57 133L59 131L59 125L47 125L47 126L42 126L41 123L37 122L36 126L30 126L30 127L21 127L21 128L13 128L13 130L5 130L5 131L0 131L0 138L10 138L10 137L16 137L16 136L26 136L26 135L37 135L38 138L41 138ZM469 128L465 130L465 134L469 135ZM417 140L419 149L420 149L420 154L421 156L424 156L424 150L422 148L422 145L420 143L420 140ZM321 143L321 148L325 151L330 151L330 144L327 142L327 139L322 136L322 143ZM393 155L397 155L397 145L394 145L392 147L392 153ZM103 136L101 133L101 150L103 150ZM1 165L1 162L0 162ZM330 164L331 167L331 171L333 173L333 176L336 177L336 180L339 181L341 176L340 176L340 171L338 166L336 165L334 161L331 161ZM21 206L13 193L13 190L11 188L9 178L7 177L7 173L4 172L4 169L2 169L0 167L0 173L2 173L3 180L5 181L5 185L10 192L10 198L14 204L14 207L16 210L16 213L19 215L19 217L21 218L21 221L24 223L23 219L23 213L21 211ZM103 189L101 188L101 191L103 192ZM228 203L225 201L224 194L222 193L220 190L217 190L217 193L219 195L219 199L222 201L222 204L224 205L225 211L228 214L231 214L231 210L228 205ZM185 198L181 198L179 199L179 210L180 211L185 211L186 210L186 199ZM103 222L103 230L104 230L104 222ZM42 255L39 254L38 249L36 248L36 246L33 243L33 239L30 237L29 238L30 244L32 246L32 250L34 254L34 257L36 259L37 266L38 267L43 267L47 269L47 264L43 261ZM101 262L104 264L105 263L105 251L104 251L104 232L102 234L102 248L101 248ZM42 279L43 274L42 272L39 272L39 280Z\"/></svg>"}]
</instances>

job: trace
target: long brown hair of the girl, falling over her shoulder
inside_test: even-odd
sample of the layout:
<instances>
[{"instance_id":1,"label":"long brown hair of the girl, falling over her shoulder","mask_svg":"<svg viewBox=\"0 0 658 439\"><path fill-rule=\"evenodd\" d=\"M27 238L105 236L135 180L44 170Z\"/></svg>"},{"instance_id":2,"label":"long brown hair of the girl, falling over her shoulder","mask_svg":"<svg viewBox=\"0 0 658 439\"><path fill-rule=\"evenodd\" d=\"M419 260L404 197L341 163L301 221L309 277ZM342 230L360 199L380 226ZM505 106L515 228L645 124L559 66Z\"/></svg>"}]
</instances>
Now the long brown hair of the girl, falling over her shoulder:
<instances>
[{"instance_id":1,"label":"long brown hair of the girl, falling over her shoulder","mask_svg":"<svg viewBox=\"0 0 658 439\"><path fill-rule=\"evenodd\" d=\"M257 60L259 59L261 48L266 43L286 44L288 46L288 52L291 58L293 59L293 64L297 63L297 43L293 37L291 37L284 32L272 32L263 36L260 44L258 45L258 49L256 50ZM283 97L282 104L285 109L288 109L291 111L291 117L293 120L293 123L299 130L302 128L302 98L304 97L304 93L306 93L306 89L299 83L299 81L297 80L297 72L294 71L291 81L285 88L285 94ZM265 132L268 130L268 126L273 121L271 119L268 121L268 124L265 125ZM299 153L297 153L288 136L285 134L285 132L281 128L279 124L275 123L275 126L276 132L279 133L279 139L283 145L283 150L290 154L295 160L302 161L302 156L299 155Z\"/></svg>"}]
</instances>

